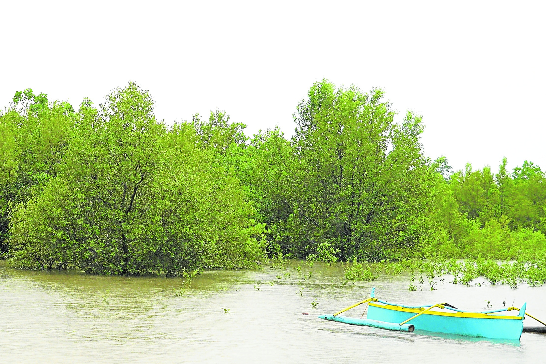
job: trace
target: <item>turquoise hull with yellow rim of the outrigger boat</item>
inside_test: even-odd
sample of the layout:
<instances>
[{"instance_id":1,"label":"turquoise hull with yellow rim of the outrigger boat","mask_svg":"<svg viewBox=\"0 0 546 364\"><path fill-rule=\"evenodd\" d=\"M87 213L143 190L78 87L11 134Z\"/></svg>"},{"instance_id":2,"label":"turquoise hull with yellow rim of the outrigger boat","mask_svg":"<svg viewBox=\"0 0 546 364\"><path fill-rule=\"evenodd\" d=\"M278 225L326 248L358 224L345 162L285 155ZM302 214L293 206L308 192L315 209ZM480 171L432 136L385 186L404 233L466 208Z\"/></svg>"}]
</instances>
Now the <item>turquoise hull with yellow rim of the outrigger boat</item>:
<instances>
[{"instance_id":1,"label":"turquoise hull with yellow rim of the outrigger boat","mask_svg":"<svg viewBox=\"0 0 546 364\"><path fill-rule=\"evenodd\" d=\"M422 310L370 303L367 319L388 323L402 323ZM523 331L523 317L464 312L428 311L409 323L415 330L452 333L456 335L519 340Z\"/></svg>"}]
</instances>

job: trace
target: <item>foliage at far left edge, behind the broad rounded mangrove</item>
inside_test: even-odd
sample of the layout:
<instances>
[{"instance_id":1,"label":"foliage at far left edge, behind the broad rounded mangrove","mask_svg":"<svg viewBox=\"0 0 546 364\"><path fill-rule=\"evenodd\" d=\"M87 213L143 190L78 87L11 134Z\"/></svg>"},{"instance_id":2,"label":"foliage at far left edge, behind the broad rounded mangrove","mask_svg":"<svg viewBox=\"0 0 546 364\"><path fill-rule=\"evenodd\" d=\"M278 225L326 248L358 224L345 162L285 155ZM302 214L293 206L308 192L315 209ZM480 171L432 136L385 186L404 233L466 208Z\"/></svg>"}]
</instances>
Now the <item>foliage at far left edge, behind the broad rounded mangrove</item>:
<instances>
[{"instance_id":1,"label":"foliage at far left edge, behind the broad rounded mangrove","mask_svg":"<svg viewBox=\"0 0 546 364\"><path fill-rule=\"evenodd\" d=\"M13 206L43 188L64 163L74 131L75 114L65 102L48 102L32 89L16 92L15 106L0 113L0 254L9 249Z\"/></svg>"}]
</instances>

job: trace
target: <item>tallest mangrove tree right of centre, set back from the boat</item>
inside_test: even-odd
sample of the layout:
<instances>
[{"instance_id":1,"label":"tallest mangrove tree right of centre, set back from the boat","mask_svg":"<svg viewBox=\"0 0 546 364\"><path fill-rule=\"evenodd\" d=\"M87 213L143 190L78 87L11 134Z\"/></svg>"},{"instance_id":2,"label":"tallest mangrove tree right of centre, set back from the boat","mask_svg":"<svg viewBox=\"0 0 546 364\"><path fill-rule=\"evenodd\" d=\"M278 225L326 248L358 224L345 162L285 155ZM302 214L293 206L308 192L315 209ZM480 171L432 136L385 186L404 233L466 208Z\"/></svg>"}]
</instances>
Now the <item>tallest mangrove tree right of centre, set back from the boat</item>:
<instances>
[{"instance_id":1,"label":"tallest mangrove tree right of centre, set back from the boat","mask_svg":"<svg viewBox=\"0 0 546 364\"><path fill-rule=\"evenodd\" d=\"M315 83L296 134L259 133L228 160L248 187L268 241L297 258L379 261L410 253L422 234L430 173L421 118L401 124L380 89Z\"/></svg>"}]
</instances>

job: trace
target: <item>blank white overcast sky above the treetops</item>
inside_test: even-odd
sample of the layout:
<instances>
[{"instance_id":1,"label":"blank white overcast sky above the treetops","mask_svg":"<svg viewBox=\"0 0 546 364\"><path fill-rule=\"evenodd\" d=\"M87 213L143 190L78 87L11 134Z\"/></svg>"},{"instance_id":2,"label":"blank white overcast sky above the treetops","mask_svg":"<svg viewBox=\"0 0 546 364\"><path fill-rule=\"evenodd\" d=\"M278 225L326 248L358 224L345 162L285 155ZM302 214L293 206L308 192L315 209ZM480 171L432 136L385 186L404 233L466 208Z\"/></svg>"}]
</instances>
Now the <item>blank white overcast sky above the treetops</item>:
<instances>
[{"instance_id":1,"label":"blank white overcast sky above the treetops","mask_svg":"<svg viewBox=\"0 0 546 364\"><path fill-rule=\"evenodd\" d=\"M378 4L381 3L381 4ZM247 134L292 114L313 81L382 87L423 115L425 153L546 169L545 2L0 3L0 105L30 87L102 102L129 80L171 123L226 110Z\"/></svg>"}]
</instances>

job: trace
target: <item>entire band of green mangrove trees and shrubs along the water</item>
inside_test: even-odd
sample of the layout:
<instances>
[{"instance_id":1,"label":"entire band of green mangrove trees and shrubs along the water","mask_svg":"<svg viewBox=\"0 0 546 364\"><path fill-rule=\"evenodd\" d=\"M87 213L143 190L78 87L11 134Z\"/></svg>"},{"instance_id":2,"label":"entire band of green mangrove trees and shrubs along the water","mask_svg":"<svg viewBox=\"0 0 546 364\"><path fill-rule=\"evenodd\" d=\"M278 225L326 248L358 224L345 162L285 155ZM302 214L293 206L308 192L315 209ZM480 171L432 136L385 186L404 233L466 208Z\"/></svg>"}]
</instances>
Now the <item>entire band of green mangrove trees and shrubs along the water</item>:
<instances>
[{"instance_id":1,"label":"entire band of green mangrove trees and shrubs along the water","mask_svg":"<svg viewBox=\"0 0 546 364\"><path fill-rule=\"evenodd\" d=\"M544 172L426 158L422 118L395 123L381 89L314 83L292 138L250 138L224 111L168 126L153 110L133 82L78 110L15 93L0 111L9 266L187 278L289 258L342 261L345 283L407 271L410 290L447 274L546 282Z\"/></svg>"}]
</instances>

